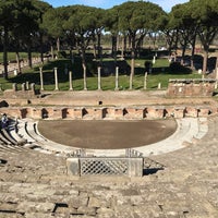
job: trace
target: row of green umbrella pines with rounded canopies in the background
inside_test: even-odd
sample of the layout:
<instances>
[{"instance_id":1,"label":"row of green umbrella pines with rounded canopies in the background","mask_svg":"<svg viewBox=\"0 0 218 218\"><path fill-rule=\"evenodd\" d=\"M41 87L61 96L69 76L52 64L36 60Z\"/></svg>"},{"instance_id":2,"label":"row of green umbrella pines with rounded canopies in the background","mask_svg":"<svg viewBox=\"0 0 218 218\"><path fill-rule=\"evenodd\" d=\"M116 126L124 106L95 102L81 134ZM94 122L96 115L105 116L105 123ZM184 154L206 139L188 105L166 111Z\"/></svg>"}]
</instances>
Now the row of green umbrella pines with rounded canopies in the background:
<instances>
[{"instance_id":1,"label":"row of green umbrella pines with rounded canopies in the background","mask_svg":"<svg viewBox=\"0 0 218 218\"><path fill-rule=\"evenodd\" d=\"M57 49L61 45L77 49L86 77L86 50L93 47L94 56L101 56L101 37L105 33L111 36L112 55L117 57L117 38L122 38L122 52L131 52L130 88L134 76L134 60L140 53L143 40L150 38L156 44L159 35L165 36L169 53L172 49L182 48L182 60L185 49L191 46L192 60L195 55L196 39L204 49L203 72L206 72L209 46L218 33L217 0L190 0L177 4L167 13L158 4L128 1L111 9L104 10L86 5L52 8L39 0L0 1L0 31L3 49L4 77L8 77L8 55L10 48L16 52L28 53L32 66L32 51L44 48ZM52 52L51 52L52 53Z\"/></svg>"}]
</instances>

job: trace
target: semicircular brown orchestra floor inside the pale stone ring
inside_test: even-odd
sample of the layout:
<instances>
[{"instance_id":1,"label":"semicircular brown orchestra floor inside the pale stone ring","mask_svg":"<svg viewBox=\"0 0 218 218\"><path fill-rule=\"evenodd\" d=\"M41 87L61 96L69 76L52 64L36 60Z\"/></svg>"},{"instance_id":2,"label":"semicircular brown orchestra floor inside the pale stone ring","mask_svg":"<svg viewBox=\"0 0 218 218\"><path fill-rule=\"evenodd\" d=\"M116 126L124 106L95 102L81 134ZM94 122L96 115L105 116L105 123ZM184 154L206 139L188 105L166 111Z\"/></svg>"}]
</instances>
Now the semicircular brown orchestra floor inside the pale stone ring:
<instances>
[{"instance_id":1,"label":"semicircular brown orchestra floor inside the pale stone ring","mask_svg":"<svg viewBox=\"0 0 218 218\"><path fill-rule=\"evenodd\" d=\"M39 132L72 147L92 149L132 148L157 143L177 130L173 119L142 121L41 120Z\"/></svg>"}]
</instances>

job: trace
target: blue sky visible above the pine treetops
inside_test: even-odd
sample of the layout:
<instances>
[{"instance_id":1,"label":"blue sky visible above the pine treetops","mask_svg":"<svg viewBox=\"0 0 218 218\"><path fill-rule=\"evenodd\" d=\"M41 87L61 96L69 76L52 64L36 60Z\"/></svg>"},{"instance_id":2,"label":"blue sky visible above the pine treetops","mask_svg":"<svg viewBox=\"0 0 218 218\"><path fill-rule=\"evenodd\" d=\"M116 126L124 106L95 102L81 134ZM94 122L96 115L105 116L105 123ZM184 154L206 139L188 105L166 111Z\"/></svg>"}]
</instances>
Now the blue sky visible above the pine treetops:
<instances>
[{"instance_id":1,"label":"blue sky visible above the pine treetops","mask_svg":"<svg viewBox=\"0 0 218 218\"><path fill-rule=\"evenodd\" d=\"M73 4L84 4L89 7L110 9L113 5L119 5L128 0L44 0L52 7L63 7ZM137 0L132 0L137 1ZM189 0L149 0L149 2L160 5L165 11L170 12L171 8L179 3L187 2Z\"/></svg>"}]
</instances>

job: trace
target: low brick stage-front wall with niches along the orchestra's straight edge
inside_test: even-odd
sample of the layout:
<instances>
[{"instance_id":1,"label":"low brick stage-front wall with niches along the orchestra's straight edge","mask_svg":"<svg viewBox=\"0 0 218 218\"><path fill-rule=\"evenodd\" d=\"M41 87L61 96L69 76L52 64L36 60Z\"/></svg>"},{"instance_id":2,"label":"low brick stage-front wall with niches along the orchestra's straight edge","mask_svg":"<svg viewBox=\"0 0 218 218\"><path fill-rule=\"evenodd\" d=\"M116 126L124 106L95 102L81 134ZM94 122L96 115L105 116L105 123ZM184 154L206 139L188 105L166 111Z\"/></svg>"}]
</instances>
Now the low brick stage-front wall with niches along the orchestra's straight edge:
<instances>
[{"instance_id":1,"label":"low brick stage-front wall with niches along the orchestra's straight edge","mask_svg":"<svg viewBox=\"0 0 218 218\"><path fill-rule=\"evenodd\" d=\"M69 120L144 120L216 114L213 106L144 106L144 107L7 107L0 112L16 118Z\"/></svg>"}]
</instances>

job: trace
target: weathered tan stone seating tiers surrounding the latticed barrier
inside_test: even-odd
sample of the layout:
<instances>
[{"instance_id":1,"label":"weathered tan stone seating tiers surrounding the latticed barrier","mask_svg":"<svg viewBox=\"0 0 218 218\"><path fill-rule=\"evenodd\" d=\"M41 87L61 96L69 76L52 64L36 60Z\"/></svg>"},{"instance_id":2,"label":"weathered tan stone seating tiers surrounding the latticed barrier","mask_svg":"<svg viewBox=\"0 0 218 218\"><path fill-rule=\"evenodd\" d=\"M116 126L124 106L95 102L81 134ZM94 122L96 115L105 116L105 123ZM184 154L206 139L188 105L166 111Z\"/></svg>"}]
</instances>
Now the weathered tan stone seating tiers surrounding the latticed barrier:
<instances>
[{"instance_id":1,"label":"weathered tan stone seating tiers surrounding the latticed barrier","mask_svg":"<svg viewBox=\"0 0 218 218\"><path fill-rule=\"evenodd\" d=\"M217 143L210 117L202 140L153 156L165 169L143 178L68 177L62 156L0 145L0 217L216 218Z\"/></svg>"}]
</instances>

